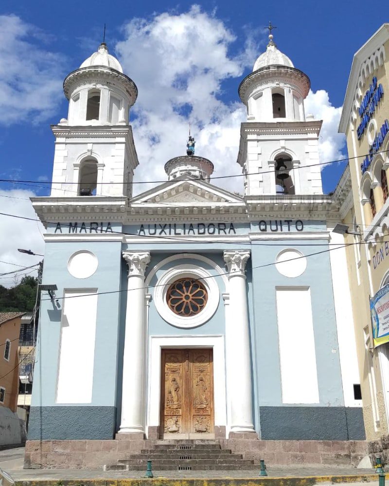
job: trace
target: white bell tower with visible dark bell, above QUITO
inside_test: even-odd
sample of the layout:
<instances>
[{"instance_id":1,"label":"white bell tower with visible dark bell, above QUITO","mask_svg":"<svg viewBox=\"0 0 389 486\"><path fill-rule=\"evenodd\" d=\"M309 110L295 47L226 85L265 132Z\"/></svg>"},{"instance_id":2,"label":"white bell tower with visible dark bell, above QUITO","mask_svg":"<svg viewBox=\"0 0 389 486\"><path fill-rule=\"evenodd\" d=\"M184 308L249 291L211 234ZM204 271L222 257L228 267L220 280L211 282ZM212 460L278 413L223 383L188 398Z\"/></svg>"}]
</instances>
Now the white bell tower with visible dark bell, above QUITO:
<instances>
[{"instance_id":1,"label":"white bell tower with visible dark bell, above QUITO","mask_svg":"<svg viewBox=\"0 0 389 486\"><path fill-rule=\"evenodd\" d=\"M322 121L304 112L310 81L277 49L268 28L266 52L239 86L247 107L237 160L248 174L245 194L322 194L320 166L314 165Z\"/></svg>"}]
</instances>

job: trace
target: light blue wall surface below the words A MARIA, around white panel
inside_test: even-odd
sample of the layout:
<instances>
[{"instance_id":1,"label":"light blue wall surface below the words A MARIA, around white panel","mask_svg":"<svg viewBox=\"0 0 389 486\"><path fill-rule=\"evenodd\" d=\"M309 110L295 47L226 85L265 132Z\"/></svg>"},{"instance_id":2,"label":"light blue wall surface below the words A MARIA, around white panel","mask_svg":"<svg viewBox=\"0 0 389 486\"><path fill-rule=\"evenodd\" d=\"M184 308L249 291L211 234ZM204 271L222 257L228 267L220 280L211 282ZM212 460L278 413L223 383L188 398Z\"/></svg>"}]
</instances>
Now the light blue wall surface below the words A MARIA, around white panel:
<instances>
[{"instance_id":1,"label":"light blue wall surface below the words A MARIA, around white panel","mask_svg":"<svg viewBox=\"0 0 389 486\"><path fill-rule=\"evenodd\" d=\"M67 270L67 263L75 251L83 249L92 251L98 258L99 265L90 278L74 278ZM111 292L120 290L121 268L120 241L46 244L42 283L56 284L57 297L63 296L64 289L96 288L99 293L109 292L106 295L98 295L92 402L85 406L116 405L121 293ZM47 292L42 292L42 299L47 298ZM32 396L32 405L35 407L56 405L62 300L59 300L59 305L60 309L55 309L50 300L42 300L41 303L38 354ZM83 356L74 356L74 359L82 362ZM70 404L72 405L76 404Z\"/></svg>"}]
</instances>

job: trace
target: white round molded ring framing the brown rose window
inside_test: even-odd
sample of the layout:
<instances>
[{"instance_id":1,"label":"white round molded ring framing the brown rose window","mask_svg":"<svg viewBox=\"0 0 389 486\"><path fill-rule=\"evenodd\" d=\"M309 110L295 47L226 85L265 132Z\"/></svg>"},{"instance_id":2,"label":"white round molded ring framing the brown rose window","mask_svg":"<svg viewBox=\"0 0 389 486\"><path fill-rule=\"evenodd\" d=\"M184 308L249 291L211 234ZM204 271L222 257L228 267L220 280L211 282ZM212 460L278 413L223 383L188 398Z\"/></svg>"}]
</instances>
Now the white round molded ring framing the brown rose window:
<instances>
[{"instance_id":1,"label":"white round molded ring framing the brown rose window","mask_svg":"<svg viewBox=\"0 0 389 486\"><path fill-rule=\"evenodd\" d=\"M200 280L206 288L208 300L204 308L189 317L180 316L168 306L166 295L170 286L181 278L194 278ZM154 288L154 303L159 315L168 324L177 328L190 329L201 326L209 321L219 305L220 293L215 278L204 268L195 265L177 265L166 270L158 279Z\"/></svg>"}]
</instances>

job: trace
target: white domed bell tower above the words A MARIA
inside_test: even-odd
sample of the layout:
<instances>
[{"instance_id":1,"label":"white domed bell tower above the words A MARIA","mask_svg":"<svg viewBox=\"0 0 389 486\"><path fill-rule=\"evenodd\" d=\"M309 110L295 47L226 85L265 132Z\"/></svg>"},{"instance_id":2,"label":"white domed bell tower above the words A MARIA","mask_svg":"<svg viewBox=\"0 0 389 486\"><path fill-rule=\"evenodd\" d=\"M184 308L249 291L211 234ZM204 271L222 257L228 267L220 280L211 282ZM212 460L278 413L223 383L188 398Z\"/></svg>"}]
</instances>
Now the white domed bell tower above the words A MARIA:
<instances>
[{"instance_id":1,"label":"white domed bell tower above the words A MARIA","mask_svg":"<svg viewBox=\"0 0 389 486\"><path fill-rule=\"evenodd\" d=\"M53 125L51 196L131 196L138 165L130 107L138 89L103 42L64 81L68 119Z\"/></svg>"}]
</instances>

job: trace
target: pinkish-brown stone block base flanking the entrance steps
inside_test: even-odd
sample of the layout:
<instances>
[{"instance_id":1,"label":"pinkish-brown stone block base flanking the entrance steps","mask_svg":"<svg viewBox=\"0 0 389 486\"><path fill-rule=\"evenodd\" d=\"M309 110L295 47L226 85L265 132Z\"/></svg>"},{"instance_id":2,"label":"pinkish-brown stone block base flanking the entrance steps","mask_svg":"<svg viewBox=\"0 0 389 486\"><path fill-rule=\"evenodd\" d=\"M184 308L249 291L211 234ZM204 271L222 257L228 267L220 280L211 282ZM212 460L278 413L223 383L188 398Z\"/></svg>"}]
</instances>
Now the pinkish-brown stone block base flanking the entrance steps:
<instances>
[{"instance_id":1,"label":"pinkish-brown stone block base flanking the entrance steps","mask_svg":"<svg viewBox=\"0 0 389 486\"><path fill-rule=\"evenodd\" d=\"M106 464L130 459L141 450L157 444L175 443L174 440L28 440L25 452L25 469L103 469ZM182 441L181 441L182 442ZM194 443L212 441L187 441ZM340 440L259 440L219 439L214 443L243 455L243 459L256 464L354 466L368 453L366 441Z\"/></svg>"}]
</instances>

